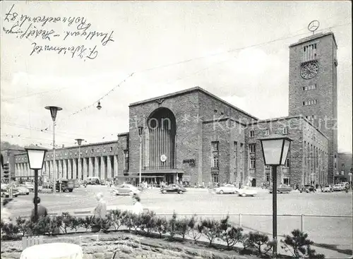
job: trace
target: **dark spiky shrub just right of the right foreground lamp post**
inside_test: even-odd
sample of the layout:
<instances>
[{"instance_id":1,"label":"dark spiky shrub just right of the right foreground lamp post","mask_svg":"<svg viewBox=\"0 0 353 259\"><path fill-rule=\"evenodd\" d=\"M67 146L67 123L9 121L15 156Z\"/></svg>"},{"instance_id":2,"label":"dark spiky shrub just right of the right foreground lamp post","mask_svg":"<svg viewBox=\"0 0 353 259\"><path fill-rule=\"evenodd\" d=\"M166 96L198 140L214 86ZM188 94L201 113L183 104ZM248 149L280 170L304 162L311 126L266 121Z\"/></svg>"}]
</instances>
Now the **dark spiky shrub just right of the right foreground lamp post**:
<instances>
[{"instance_id":1,"label":"dark spiky shrub just right of the right foreground lamp post","mask_svg":"<svg viewBox=\"0 0 353 259\"><path fill-rule=\"evenodd\" d=\"M281 240L282 248L286 252L292 253L296 258L325 258L325 255L316 254L316 251L311 249L313 241L308 239L308 234L301 232L299 229L292 231L292 236L285 235L285 240Z\"/></svg>"}]
</instances>

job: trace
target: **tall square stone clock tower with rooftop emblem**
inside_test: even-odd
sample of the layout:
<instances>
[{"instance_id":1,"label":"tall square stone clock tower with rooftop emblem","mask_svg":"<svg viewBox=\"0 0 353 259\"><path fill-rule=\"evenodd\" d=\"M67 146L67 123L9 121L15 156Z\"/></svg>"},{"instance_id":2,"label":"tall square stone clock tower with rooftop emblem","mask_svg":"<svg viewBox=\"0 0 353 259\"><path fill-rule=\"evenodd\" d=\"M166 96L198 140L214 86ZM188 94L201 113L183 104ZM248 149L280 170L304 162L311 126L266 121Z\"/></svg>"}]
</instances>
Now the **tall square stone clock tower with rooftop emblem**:
<instances>
[{"instance_id":1,"label":"tall square stone clock tower with rooftop emblem","mask_svg":"<svg viewBox=\"0 0 353 259\"><path fill-rule=\"evenodd\" d=\"M289 46L289 116L299 114L328 137L325 182L333 183L337 174L337 44L333 32Z\"/></svg>"}]
</instances>

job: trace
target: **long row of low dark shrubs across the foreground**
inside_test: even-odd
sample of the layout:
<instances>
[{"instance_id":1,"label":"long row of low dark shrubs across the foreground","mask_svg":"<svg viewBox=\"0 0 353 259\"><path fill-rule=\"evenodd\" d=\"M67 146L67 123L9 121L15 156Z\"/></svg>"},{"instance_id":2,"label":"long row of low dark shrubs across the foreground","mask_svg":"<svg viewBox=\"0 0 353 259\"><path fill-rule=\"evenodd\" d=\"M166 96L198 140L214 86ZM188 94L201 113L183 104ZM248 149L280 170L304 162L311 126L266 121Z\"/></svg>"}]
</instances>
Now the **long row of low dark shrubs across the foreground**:
<instances>
[{"instance_id":1,"label":"long row of low dark shrubs across the foreground","mask_svg":"<svg viewBox=\"0 0 353 259\"><path fill-rule=\"evenodd\" d=\"M215 219L198 219L196 215L191 218L178 218L174 212L171 219L155 215L155 212L143 212L140 215L129 211L112 210L106 219L93 216L73 217L68 212L61 216L40 217L37 222L22 217L16 218L16 224L1 222L1 239L18 239L25 235L54 235L68 233L68 230L77 232L84 228L86 231L118 231L126 227L130 232L139 232L145 236L157 234L160 239L167 236L174 240L176 236L193 239L195 243L201 236L208 239L208 246L213 246L215 240L224 241L228 249L232 249L237 243L241 243L244 250L255 250L258 255L268 255L273 248L273 241L267 235L259 232L244 234L241 227L236 227L229 222L229 216L217 221ZM292 253L294 258L325 258L324 255L316 254L311 249L313 241L309 240L307 234L295 229L292 236L285 236L281 240L282 248Z\"/></svg>"}]
</instances>

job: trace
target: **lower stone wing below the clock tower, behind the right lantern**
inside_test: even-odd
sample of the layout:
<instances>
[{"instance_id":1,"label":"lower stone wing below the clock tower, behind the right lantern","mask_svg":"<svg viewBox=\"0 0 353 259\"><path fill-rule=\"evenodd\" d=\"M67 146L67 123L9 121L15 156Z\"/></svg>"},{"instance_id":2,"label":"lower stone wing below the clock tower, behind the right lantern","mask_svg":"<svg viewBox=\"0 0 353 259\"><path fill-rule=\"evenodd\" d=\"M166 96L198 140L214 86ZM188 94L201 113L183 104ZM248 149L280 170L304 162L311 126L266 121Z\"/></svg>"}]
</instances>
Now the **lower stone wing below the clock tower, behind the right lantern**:
<instances>
[{"instance_id":1,"label":"lower stone wing below the clock tower, behind the right lantern","mask_svg":"<svg viewBox=\"0 0 353 259\"><path fill-rule=\"evenodd\" d=\"M257 121L246 128L246 164L249 167L249 179L256 179L253 186L261 186L261 183L268 182L268 176L271 176L270 167L264 164L259 140L271 134L285 135L293 140L285 166L277 168L278 183L299 186L306 183L325 183L327 161L324 154L327 157L328 138L303 116L289 116ZM311 147L312 154L305 152L306 146ZM255 159L252 166L251 159Z\"/></svg>"}]
</instances>

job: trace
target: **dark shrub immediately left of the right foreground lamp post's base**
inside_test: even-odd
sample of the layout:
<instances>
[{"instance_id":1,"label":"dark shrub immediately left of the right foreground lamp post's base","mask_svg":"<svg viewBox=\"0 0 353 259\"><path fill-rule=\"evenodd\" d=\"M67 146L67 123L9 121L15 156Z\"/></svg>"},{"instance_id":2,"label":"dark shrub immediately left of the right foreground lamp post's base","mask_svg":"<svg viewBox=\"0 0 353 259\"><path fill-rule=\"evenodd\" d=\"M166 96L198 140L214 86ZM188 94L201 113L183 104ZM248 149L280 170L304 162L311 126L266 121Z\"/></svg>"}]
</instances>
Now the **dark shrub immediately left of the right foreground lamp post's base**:
<instances>
[{"instance_id":1,"label":"dark shrub immediately left of the right foreground lamp post's base","mask_svg":"<svg viewBox=\"0 0 353 259\"><path fill-rule=\"evenodd\" d=\"M250 232L244 235L243 245L244 249L255 248L259 255L264 255L273 248L273 242L269 241L268 236L259 232ZM266 246L264 250L263 246Z\"/></svg>"}]
</instances>

